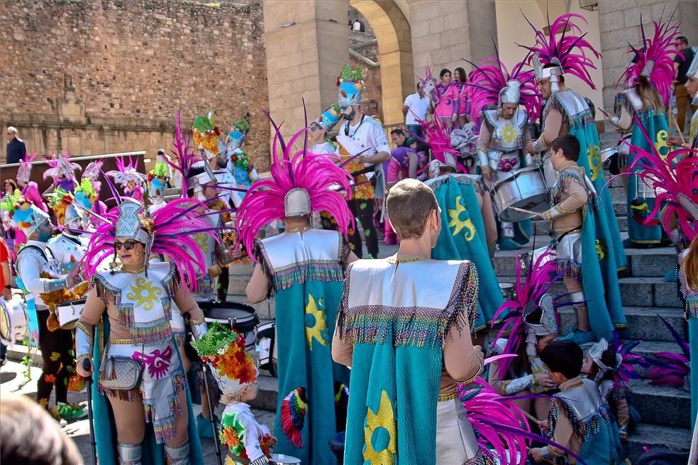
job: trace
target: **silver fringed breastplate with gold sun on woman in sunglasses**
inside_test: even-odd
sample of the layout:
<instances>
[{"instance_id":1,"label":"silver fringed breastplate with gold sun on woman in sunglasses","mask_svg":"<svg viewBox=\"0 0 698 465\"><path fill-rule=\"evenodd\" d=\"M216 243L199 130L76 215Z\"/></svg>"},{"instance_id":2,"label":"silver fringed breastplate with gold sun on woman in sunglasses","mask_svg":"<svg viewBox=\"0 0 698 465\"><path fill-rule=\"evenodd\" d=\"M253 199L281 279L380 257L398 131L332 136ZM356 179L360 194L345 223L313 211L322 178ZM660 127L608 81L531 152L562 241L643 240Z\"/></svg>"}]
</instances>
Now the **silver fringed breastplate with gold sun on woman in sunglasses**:
<instances>
[{"instance_id":1,"label":"silver fringed breastplate with gold sun on woman in sunglasses","mask_svg":"<svg viewBox=\"0 0 698 465\"><path fill-rule=\"evenodd\" d=\"M92 285L102 300L113 302L116 323L128 329L137 344L160 344L172 339L172 262L150 263L145 273L104 272L94 275ZM106 298L105 298L106 297Z\"/></svg>"}]
</instances>

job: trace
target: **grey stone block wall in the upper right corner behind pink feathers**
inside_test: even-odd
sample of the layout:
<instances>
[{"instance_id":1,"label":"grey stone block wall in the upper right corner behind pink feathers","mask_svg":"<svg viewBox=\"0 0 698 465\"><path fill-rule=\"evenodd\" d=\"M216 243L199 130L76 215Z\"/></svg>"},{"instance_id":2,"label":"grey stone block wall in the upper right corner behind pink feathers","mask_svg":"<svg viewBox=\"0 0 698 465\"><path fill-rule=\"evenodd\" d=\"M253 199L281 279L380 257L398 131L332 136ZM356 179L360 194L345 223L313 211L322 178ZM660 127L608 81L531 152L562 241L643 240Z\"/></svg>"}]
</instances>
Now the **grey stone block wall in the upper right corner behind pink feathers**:
<instances>
[{"instance_id":1,"label":"grey stone block wall in the upper right corner behind pink feathers","mask_svg":"<svg viewBox=\"0 0 698 465\"><path fill-rule=\"evenodd\" d=\"M604 55L604 102L609 106L619 89L615 84L625 70L632 55L628 42L638 48L642 42L640 18L647 35L652 35L652 21L664 21L674 13L675 21L681 22L681 34L691 45L698 45L698 1L670 0L599 0L599 29L601 52ZM619 85L622 89L622 85Z\"/></svg>"}]
</instances>

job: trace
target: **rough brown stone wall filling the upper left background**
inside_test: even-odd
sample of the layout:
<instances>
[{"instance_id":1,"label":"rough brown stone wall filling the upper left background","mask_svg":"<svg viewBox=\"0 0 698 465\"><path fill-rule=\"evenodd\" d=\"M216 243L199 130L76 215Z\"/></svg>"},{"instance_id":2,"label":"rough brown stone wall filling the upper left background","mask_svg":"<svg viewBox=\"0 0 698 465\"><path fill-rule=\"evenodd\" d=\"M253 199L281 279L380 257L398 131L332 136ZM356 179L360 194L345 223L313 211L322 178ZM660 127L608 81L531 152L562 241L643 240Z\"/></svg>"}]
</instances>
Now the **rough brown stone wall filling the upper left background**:
<instances>
[{"instance_id":1,"label":"rough brown stone wall filling the upper left background","mask_svg":"<svg viewBox=\"0 0 698 465\"><path fill-rule=\"evenodd\" d=\"M154 153L181 105L185 126L213 109L222 131L249 111L245 148L267 169L260 0L2 1L0 22L0 124L29 151Z\"/></svg>"}]
</instances>

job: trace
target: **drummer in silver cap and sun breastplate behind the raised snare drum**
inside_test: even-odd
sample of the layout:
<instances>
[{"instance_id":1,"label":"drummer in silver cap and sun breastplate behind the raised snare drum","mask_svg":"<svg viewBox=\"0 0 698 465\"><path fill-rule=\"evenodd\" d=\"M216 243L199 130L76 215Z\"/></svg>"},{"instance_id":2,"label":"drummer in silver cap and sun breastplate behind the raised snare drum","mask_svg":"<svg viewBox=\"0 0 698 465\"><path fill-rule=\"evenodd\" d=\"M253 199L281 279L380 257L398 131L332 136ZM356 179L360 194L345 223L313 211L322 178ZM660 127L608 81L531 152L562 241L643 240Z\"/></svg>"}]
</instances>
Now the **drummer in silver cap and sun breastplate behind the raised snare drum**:
<instances>
[{"instance_id":1,"label":"drummer in silver cap and sun breastplate behind the raised snare drum","mask_svg":"<svg viewBox=\"0 0 698 465\"><path fill-rule=\"evenodd\" d=\"M477 79L482 73L476 70L472 72L471 77L473 75ZM477 87L472 87L473 101L480 97L479 94L497 92L498 95L497 108L483 110L481 113L480 137L477 139L477 163L482 170L482 177L487 182L494 183L519 168L533 165L531 155L524 155L523 151L531 136L528 135L529 115L520 109L520 104L528 95L522 97L522 84L515 79L507 81L506 87L501 89L497 89L495 84L487 80L476 84ZM499 222L497 236L500 249L519 249L528 244L531 220L516 223Z\"/></svg>"}]
</instances>

